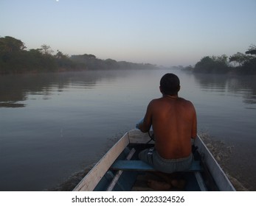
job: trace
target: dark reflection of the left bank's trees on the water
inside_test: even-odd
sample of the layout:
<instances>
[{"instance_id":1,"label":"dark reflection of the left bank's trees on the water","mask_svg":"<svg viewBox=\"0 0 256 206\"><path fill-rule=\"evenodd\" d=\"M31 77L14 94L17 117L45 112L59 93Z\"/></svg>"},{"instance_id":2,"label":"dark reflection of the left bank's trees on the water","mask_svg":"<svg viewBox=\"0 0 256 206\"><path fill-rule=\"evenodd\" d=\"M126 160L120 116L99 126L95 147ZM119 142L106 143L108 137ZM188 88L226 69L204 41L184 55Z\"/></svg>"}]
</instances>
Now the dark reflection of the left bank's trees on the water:
<instances>
[{"instance_id":1,"label":"dark reflection of the left bank's trees on the water","mask_svg":"<svg viewBox=\"0 0 256 206\"><path fill-rule=\"evenodd\" d=\"M0 107L26 107L21 102L27 100L28 95L49 99L55 90L61 93L70 87L90 89L100 79L113 79L116 75L117 71L83 71L0 76Z\"/></svg>"}]
</instances>

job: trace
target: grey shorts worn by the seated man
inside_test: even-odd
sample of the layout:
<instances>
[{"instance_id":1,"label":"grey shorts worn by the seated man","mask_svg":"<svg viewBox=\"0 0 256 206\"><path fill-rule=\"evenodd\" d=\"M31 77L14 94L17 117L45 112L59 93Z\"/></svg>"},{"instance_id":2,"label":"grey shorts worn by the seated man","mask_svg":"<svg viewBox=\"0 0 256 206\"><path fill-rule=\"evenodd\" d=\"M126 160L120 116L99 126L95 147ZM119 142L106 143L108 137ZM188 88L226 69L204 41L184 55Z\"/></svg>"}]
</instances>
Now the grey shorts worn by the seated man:
<instances>
[{"instance_id":1,"label":"grey shorts worn by the seated man","mask_svg":"<svg viewBox=\"0 0 256 206\"><path fill-rule=\"evenodd\" d=\"M167 160L161 157L154 147L139 152L139 160L153 166L157 171L173 173L175 171L186 171L190 168L193 161L193 154L188 157Z\"/></svg>"}]
</instances>

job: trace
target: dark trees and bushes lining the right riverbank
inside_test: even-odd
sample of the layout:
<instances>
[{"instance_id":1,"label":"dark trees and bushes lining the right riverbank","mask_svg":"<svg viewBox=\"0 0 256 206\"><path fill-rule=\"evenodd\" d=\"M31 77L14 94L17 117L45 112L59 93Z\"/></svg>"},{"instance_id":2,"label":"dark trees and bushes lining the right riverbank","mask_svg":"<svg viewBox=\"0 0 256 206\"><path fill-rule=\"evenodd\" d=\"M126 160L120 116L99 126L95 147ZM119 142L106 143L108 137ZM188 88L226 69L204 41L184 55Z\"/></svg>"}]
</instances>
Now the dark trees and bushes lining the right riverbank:
<instances>
[{"instance_id":1,"label":"dark trees and bushes lining the right riverbank","mask_svg":"<svg viewBox=\"0 0 256 206\"><path fill-rule=\"evenodd\" d=\"M256 46L249 46L245 54L237 52L230 57L203 57L195 67L188 66L185 70L206 74L256 74Z\"/></svg>"}]
</instances>

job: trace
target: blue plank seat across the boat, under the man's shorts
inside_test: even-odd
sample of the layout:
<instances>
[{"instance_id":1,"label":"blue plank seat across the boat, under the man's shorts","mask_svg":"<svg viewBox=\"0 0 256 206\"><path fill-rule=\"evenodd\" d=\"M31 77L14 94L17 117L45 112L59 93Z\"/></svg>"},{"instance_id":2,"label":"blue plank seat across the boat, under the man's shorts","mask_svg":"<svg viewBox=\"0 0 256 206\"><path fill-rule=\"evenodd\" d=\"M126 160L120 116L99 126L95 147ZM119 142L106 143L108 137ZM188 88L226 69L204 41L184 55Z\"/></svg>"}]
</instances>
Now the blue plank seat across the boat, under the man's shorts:
<instances>
[{"instance_id":1,"label":"blue plank seat across the boat, under the man's shorts","mask_svg":"<svg viewBox=\"0 0 256 206\"><path fill-rule=\"evenodd\" d=\"M126 171L155 171L155 169L142 160L116 160L111 169ZM193 161L188 171L202 171L200 161Z\"/></svg>"}]
</instances>

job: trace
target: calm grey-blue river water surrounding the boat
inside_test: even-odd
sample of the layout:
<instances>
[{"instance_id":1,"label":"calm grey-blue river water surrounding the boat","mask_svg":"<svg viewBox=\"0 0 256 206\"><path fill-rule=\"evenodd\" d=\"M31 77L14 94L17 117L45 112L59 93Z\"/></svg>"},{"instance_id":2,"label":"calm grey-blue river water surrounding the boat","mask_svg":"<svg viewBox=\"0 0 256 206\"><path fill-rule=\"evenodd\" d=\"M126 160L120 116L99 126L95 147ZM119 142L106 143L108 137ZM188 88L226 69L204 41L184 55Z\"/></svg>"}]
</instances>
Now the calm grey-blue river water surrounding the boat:
<instances>
[{"instance_id":1,"label":"calm grey-blue river water surrounding the boat","mask_svg":"<svg viewBox=\"0 0 256 206\"><path fill-rule=\"evenodd\" d=\"M167 72L225 171L256 191L256 77L164 69L1 76L0 191L51 190L97 162L162 96Z\"/></svg>"}]
</instances>

